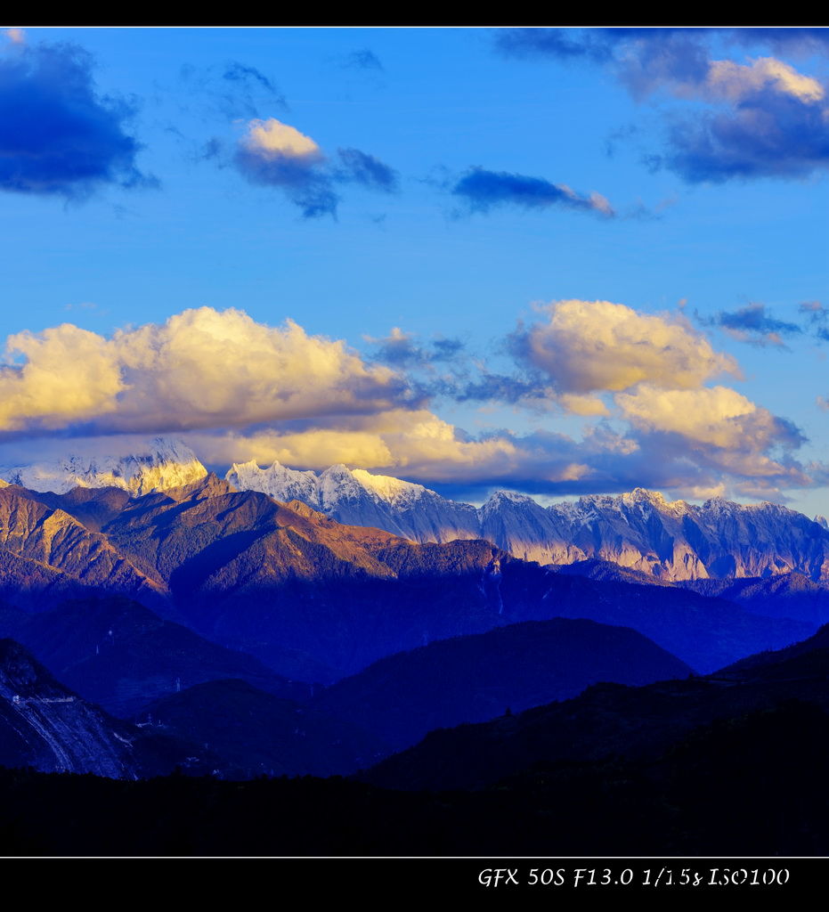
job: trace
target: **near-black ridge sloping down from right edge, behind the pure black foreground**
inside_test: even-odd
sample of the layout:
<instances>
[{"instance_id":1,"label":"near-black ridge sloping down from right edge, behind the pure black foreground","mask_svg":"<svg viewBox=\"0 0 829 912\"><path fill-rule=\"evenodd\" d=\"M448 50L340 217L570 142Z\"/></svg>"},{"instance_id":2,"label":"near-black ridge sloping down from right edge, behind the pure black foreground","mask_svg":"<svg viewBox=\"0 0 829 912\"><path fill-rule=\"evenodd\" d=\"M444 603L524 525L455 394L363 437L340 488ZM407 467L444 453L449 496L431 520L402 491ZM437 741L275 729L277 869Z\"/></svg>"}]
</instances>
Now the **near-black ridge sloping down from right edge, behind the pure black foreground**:
<instances>
[{"instance_id":1,"label":"near-black ridge sloping down from right edge, behind the pure black foreground","mask_svg":"<svg viewBox=\"0 0 829 912\"><path fill-rule=\"evenodd\" d=\"M641 688L598 684L575 700L520 716L432 731L420 744L368 771L366 780L396 789L480 789L535 763L595 763L612 755L626 762L657 762L700 727L722 720L736 723L787 700L809 705L818 718L829 711L829 649L824 642L821 631L800 648L707 678ZM779 746L768 747L777 751ZM799 759L808 775L829 758L804 754Z\"/></svg>"}]
</instances>

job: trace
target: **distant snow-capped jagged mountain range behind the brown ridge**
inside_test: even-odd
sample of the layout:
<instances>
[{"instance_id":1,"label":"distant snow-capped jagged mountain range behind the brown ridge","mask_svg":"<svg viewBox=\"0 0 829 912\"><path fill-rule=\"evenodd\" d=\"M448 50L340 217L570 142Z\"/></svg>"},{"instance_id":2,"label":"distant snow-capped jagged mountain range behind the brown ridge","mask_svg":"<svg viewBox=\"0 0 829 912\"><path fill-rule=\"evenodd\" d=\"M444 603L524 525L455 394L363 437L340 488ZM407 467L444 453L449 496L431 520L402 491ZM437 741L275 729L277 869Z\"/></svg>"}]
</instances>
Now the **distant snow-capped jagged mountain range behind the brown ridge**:
<instances>
[{"instance_id":1,"label":"distant snow-capped jagged mountain range behind the brown ridge","mask_svg":"<svg viewBox=\"0 0 829 912\"><path fill-rule=\"evenodd\" d=\"M0 470L0 478L38 492L114 486L131 495L165 492L206 477L180 441L157 438L127 457L67 457ZM298 472L234 463L225 475L236 491L282 503L299 501L337 523L382 529L413 542L483 539L542 565L591 558L668 581L769 577L796 572L829 579L829 529L779 504L741 505L713 498L668 503L637 488L544 507L515 492L495 492L482 507L456 503L420 484L335 465Z\"/></svg>"}]
</instances>

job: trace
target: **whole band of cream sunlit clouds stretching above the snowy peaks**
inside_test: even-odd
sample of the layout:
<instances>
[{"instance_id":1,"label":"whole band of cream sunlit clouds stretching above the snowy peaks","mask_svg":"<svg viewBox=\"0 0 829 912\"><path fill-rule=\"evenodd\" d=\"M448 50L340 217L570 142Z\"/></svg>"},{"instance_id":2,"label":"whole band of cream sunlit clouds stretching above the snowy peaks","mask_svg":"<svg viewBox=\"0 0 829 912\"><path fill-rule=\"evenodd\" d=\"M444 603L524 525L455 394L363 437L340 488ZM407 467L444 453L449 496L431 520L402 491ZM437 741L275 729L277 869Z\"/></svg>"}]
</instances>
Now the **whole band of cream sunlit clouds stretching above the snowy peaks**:
<instances>
[{"instance_id":1,"label":"whole band of cream sunlit clouds stretching above the snowy peaks","mask_svg":"<svg viewBox=\"0 0 829 912\"><path fill-rule=\"evenodd\" d=\"M109 337L68 324L9 337L0 437L7 450L49 435L106 435L114 451L113 437L175 433L217 468L249 459L316 470L343 462L454 496L474 489L476 498L496 486L561 496L637 485L724 485L772 497L824 471L793 458L803 435L791 423L733 389L704 386L736 364L679 318L584 301L541 313L544 321L519 334L528 372L509 378L480 368L477 400L535 401L540 423L541 407L552 403L584 417L580 439L504 429L472 437L436 415L409 369L440 361L448 395L475 400L465 349L454 340L421 345L397 329L377 340L386 366L290 320L266 326L209 307Z\"/></svg>"}]
</instances>

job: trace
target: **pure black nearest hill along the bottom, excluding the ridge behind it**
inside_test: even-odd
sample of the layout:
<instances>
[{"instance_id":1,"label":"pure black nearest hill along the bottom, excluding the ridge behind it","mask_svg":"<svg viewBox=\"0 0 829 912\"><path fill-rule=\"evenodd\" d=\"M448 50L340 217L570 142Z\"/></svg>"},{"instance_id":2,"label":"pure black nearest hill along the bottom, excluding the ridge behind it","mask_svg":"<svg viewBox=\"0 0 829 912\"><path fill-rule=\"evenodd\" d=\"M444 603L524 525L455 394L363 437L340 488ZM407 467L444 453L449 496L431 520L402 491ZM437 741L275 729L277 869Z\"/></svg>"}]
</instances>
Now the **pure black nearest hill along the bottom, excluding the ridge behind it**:
<instances>
[{"instance_id":1,"label":"pure black nearest hill along the bottom, excluding the ridge behind it","mask_svg":"<svg viewBox=\"0 0 829 912\"><path fill-rule=\"evenodd\" d=\"M477 792L395 792L307 776L123 782L0 770L0 852L826 855L827 751L829 718L792 700L712 723L652 762L547 763Z\"/></svg>"}]
</instances>

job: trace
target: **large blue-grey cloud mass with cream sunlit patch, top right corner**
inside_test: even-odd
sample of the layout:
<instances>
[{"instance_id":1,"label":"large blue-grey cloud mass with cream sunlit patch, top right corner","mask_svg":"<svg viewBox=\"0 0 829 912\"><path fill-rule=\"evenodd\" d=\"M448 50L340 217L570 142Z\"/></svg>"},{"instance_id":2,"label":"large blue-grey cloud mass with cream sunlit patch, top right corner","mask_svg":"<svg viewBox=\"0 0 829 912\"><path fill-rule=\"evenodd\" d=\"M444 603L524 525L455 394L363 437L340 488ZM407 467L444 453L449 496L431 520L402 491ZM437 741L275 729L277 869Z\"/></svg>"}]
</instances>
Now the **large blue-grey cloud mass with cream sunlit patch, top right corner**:
<instances>
[{"instance_id":1,"label":"large blue-grey cloud mass with cream sunlit patch, top right corner","mask_svg":"<svg viewBox=\"0 0 829 912\"><path fill-rule=\"evenodd\" d=\"M665 149L653 168L686 181L800 178L829 166L829 103L824 84L777 57L716 59L720 44L825 54L825 30L597 28L506 30L496 40L510 57L583 60L606 67L637 100L696 101L664 109Z\"/></svg>"}]
</instances>

